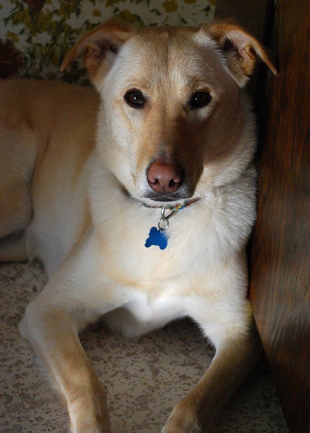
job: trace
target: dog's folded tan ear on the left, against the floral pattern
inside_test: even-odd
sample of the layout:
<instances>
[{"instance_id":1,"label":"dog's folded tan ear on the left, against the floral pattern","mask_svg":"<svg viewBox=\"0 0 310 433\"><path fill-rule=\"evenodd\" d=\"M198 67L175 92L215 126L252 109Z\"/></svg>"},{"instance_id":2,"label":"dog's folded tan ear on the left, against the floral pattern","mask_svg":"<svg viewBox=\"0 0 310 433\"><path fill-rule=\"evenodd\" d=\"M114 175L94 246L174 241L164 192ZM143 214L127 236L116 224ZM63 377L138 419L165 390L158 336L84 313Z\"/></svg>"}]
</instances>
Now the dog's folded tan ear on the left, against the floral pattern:
<instances>
[{"instance_id":1,"label":"dog's folded tan ear on the left, against the floral pattern","mask_svg":"<svg viewBox=\"0 0 310 433\"><path fill-rule=\"evenodd\" d=\"M103 63L108 67L123 43L136 32L131 24L110 18L82 37L68 52L60 66L64 71L73 60L83 58L93 81Z\"/></svg>"}]
</instances>

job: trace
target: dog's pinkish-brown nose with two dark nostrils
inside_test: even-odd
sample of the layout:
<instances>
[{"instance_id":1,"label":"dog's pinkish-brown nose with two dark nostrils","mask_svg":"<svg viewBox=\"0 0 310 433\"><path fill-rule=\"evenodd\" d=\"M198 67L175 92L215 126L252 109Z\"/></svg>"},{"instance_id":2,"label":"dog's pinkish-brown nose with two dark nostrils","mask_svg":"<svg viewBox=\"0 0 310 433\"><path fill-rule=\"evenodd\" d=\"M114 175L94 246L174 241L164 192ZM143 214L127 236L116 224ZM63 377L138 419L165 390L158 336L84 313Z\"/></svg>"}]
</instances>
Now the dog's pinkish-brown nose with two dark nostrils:
<instances>
[{"instance_id":1,"label":"dog's pinkish-brown nose with two dark nostrils","mask_svg":"<svg viewBox=\"0 0 310 433\"><path fill-rule=\"evenodd\" d=\"M154 162L148 168L148 182L158 193L174 193L183 181L183 169L179 165Z\"/></svg>"}]
</instances>

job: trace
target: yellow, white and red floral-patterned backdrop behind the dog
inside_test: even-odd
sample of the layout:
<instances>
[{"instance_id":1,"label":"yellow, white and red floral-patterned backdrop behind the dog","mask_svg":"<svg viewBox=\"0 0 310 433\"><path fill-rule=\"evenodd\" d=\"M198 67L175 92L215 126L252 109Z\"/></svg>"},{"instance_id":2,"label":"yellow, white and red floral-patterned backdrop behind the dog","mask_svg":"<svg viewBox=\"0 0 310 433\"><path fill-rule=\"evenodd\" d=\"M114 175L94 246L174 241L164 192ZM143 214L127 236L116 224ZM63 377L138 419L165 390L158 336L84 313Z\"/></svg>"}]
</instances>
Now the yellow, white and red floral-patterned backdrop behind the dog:
<instances>
[{"instance_id":1,"label":"yellow, white and red floral-patterned backdrop behind the dog","mask_svg":"<svg viewBox=\"0 0 310 433\"><path fill-rule=\"evenodd\" d=\"M59 72L82 35L115 16L137 27L200 25L214 16L215 0L0 0L0 79L61 79L88 84L83 65Z\"/></svg>"}]
</instances>

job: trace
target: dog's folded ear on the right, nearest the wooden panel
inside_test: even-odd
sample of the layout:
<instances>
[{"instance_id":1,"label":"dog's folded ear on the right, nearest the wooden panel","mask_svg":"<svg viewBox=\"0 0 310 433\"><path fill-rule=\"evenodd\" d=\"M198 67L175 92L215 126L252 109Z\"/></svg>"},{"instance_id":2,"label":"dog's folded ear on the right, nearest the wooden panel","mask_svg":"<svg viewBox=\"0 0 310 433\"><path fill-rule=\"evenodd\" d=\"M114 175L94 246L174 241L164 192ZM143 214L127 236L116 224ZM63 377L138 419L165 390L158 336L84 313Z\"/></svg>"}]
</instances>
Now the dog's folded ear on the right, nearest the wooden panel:
<instances>
[{"instance_id":1,"label":"dog's folded ear on the right, nearest the wooden panel","mask_svg":"<svg viewBox=\"0 0 310 433\"><path fill-rule=\"evenodd\" d=\"M226 65L240 87L243 87L253 73L257 60L262 60L274 75L277 70L271 55L248 31L232 20L221 20L202 26L200 32L207 34L219 46Z\"/></svg>"}]
</instances>

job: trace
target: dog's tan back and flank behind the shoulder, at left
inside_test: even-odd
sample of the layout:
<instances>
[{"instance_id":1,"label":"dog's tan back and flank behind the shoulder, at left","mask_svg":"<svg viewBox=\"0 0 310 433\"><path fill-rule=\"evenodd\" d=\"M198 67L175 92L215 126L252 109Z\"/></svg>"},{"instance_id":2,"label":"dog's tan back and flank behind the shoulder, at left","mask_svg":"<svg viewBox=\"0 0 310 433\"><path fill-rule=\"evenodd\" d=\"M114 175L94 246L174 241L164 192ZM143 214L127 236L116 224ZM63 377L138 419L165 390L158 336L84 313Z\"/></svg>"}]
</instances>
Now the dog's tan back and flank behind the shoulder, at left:
<instances>
[{"instance_id":1,"label":"dog's tan back and flank behind the shoulder, at left","mask_svg":"<svg viewBox=\"0 0 310 433\"><path fill-rule=\"evenodd\" d=\"M0 101L0 237L17 236L16 259L38 256L48 271L85 225L86 199L75 199L87 196L79 178L94 149L98 94L64 83L7 80L0 83ZM26 226L27 246L20 233ZM14 248L11 254L3 248L7 260Z\"/></svg>"}]
</instances>

